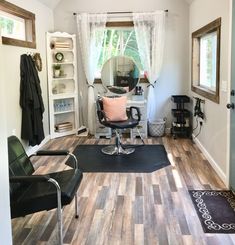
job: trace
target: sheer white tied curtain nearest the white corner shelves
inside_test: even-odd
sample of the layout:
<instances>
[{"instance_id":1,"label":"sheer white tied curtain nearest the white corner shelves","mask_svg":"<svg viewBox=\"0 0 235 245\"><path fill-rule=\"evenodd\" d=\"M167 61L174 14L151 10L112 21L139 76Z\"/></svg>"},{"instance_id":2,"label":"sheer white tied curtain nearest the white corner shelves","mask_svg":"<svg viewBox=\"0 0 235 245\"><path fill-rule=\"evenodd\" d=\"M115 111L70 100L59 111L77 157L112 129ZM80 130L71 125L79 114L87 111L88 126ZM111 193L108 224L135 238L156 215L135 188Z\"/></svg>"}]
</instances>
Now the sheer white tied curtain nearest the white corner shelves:
<instances>
[{"instance_id":1,"label":"sheer white tied curtain nearest the white corner shelves","mask_svg":"<svg viewBox=\"0 0 235 245\"><path fill-rule=\"evenodd\" d=\"M107 14L77 15L77 31L80 44L80 53L84 72L88 85L87 122L91 134L94 134L95 101L94 101L94 79L95 72L102 50Z\"/></svg>"}]
</instances>

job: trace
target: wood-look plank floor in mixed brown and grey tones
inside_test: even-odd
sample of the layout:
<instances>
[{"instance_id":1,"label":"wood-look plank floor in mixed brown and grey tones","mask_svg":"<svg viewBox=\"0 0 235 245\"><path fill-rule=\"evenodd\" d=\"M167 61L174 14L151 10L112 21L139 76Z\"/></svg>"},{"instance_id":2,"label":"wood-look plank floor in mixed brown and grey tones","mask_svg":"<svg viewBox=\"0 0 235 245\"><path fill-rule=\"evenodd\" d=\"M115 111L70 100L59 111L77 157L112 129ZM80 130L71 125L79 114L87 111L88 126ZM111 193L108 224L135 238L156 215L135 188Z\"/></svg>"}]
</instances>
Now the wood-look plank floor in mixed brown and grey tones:
<instances>
[{"instance_id":1,"label":"wood-look plank floor in mixed brown and grey tones","mask_svg":"<svg viewBox=\"0 0 235 245\"><path fill-rule=\"evenodd\" d=\"M51 140L44 149L109 143L68 136ZM203 232L188 194L189 189L225 189L208 161L189 139L146 140L162 143L171 162L166 168L153 173L84 173L78 191L79 219L74 218L74 202L63 210L64 244L235 244L235 234ZM33 160L37 173L68 168L61 157ZM12 230L14 244L57 244L56 211L14 219Z\"/></svg>"}]
</instances>

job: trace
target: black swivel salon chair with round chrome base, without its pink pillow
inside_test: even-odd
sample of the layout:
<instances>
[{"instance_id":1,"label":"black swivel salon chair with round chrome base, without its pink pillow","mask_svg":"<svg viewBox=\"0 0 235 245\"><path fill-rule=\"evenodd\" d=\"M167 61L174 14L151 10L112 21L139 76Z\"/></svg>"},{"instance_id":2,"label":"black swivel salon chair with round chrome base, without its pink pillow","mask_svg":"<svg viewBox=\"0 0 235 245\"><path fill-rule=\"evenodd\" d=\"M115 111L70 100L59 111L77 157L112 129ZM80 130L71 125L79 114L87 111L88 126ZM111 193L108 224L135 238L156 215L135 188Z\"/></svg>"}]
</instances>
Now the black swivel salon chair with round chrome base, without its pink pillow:
<instances>
[{"instance_id":1,"label":"black swivel salon chair with round chrome base, without its pink pillow","mask_svg":"<svg viewBox=\"0 0 235 245\"><path fill-rule=\"evenodd\" d=\"M127 108L127 120L125 121L109 121L105 116L103 110L102 97L99 97L96 102L97 115L99 122L105 127L109 127L114 130L116 134L115 145L109 145L102 148L102 152L107 155L120 155L120 154L131 154L135 151L133 147L125 147L121 143L121 133L123 129L135 128L140 121L140 110L138 107L131 106Z\"/></svg>"}]
</instances>

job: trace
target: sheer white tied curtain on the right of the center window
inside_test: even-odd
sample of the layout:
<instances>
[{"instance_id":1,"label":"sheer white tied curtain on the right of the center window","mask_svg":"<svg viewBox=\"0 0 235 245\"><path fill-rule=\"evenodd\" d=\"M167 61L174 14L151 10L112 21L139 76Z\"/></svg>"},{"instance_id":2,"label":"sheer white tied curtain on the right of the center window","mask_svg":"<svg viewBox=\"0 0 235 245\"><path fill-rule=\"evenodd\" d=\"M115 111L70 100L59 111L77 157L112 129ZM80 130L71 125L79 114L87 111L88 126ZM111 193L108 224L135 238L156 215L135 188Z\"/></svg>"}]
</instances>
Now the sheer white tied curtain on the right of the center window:
<instances>
[{"instance_id":1,"label":"sheer white tied curtain on the right of the center window","mask_svg":"<svg viewBox=\"0 0 235 245\"><path fill-rule=\"evenodd\" d=\"M152 121L157 105L154 85L162 68L165 43L165 11L133 13L134 29L139 55L149 80L147 97L147 118Z\"/></svg>"}]
</instances>

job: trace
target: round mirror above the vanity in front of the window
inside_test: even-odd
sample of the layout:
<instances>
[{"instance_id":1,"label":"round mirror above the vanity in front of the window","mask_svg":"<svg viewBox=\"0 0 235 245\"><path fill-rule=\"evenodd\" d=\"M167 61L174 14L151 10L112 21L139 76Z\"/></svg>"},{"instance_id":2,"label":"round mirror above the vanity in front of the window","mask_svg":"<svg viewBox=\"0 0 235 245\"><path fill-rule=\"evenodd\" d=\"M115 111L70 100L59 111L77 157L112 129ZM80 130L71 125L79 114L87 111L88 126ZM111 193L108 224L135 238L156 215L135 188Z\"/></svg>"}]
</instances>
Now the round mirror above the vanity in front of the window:
<instances>
[{"instance_id":1,"label":"round mirror above the vanity in front of the window","mask_svg":"<svg viewBox=\"0 0 235 245\"><path fill-rule=\"evenodd\" d=\"M130 57L114 56L104 63L101 80L110 92L125 94L138 84L139 75L139 68Z\"/></svg>"}]
</instances>

